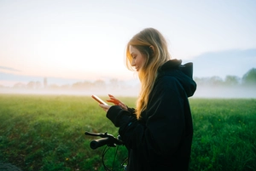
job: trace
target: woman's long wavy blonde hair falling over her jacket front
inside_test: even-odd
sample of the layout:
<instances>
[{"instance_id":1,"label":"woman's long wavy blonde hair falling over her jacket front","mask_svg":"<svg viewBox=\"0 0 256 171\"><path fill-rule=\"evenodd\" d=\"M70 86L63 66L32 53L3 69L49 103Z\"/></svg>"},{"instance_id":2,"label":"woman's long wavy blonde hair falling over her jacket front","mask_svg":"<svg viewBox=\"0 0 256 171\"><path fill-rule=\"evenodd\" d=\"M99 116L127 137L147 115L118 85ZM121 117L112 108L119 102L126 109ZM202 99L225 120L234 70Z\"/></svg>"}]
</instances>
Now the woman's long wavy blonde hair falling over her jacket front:
<instances>
[{"instance_id":1,"label":"woman's long wavy blonde hair falling over her jacket front","mask_svg":"<svg viewBox=\"0 0 256 171\"><path fill-rule=\"evenodd\" d=\"M167 60L171 59L168 52L168 47L165 37L154 28L146 28L138 32L131 38L126 47L126 66L129 70L133 71L131 66L132 56L129 47L137 48L146 62L138 71L138 77L141 82L141 91L137 99L137 119L141 117L141 113L148 106L148 96L153 89L155 79L157 77L157 70Z\"/></svg>"}]
</instances>

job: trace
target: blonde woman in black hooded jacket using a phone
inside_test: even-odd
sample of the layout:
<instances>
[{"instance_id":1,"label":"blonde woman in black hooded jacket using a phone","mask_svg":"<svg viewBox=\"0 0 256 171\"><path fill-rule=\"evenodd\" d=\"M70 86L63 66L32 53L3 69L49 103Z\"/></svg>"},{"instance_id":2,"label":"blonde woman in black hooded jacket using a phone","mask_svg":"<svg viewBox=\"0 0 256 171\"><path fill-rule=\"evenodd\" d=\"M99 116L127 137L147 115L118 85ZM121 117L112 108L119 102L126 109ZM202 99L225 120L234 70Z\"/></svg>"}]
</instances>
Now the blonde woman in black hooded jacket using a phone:
<instances>
[{"instance_id":1,"label":"blonde woman in black hooded jacket using a phone","mask_svg":"<svg viewBox=\"0 0 256 171\"><path fill-rule=\"evenodd\" d=\"M100 105L119 128L129 150L129 171L188 170L193 136L188 97L195 93L192 64L171 60L160 31L147 28L131 38L126 66L137 70L141 92L136 110L109 95Z\"/></svg>"}]
</instances>

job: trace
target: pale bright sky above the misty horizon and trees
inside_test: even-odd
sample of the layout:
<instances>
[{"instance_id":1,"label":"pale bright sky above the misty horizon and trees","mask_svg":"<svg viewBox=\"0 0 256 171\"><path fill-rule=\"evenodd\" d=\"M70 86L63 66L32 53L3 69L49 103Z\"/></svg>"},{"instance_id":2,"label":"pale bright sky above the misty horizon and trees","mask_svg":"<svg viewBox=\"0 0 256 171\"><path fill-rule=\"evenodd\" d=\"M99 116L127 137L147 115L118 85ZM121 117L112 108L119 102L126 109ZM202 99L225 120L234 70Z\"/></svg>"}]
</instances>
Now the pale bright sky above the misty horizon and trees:
<instances>
[{"instance_id":1,"label":"pale bright sky above the misty horizon and trees","mask_svg":"<svg viewBox=\"0 0 256 171\"><path fill-rule=\"evenodd\" d=\"M202 71L200 66L212 62L203 54L253 51L247 65L236 66L240 70L218 73L241 76L256 67L255 9L253 0L0 0L0 72L131 79L136 76L125 67L126 43L154 27L166 37L173 59L203 59L195 77L216 74L216 69ZM230 57L221 60L232 64ZM0 77L0 83L8 82Z\"/></svg>"}]
</instances>

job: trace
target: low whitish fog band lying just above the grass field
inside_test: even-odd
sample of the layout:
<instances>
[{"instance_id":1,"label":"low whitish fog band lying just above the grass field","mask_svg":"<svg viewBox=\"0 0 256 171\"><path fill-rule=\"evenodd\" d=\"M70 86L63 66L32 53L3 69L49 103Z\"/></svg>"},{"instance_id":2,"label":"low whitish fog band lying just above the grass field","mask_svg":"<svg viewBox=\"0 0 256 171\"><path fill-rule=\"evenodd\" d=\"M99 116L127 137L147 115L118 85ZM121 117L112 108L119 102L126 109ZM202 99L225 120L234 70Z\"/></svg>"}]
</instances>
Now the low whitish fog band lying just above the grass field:
<instances>
[{"instance_id":1,"label":"low whitish fog band lying just above the grass field","mask_svg":"<svg viewBox=\"0 0 256 171\"><path fill-rule=\"evenodd\" d=\"M81 88L0 88L0 94L59 94L59 95L91 95L107 96L134 96L137 97L139 85L125 88L92 88L90 90ZM198 85L192 98L256 98L254 87L210 87Z\"/></svg>"}]
</instances>

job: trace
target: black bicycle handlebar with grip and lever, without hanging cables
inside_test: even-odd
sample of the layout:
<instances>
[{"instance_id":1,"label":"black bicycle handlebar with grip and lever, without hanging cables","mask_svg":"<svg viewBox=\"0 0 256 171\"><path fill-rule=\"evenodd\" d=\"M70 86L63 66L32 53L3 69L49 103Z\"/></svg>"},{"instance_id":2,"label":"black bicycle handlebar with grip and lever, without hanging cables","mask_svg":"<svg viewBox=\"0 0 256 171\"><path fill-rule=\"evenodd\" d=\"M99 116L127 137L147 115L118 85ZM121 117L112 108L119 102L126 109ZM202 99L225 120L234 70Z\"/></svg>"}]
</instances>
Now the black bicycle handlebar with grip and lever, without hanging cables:
<instances>
[{"instance_id":1,"label":"black bicycle handlebar with grip and lever, without hanging cables","mask_svg":"<svg viewBox=\"0 0 256 171\"><path fill-rule=\"evenodd\" d=\"M116 145L123 145L123 141L120 140L120 137L118 136L118 138L113 137L112 134L108 134L107 132L105 134L95 134L95 133L89 133L89 132L85 132L84 134L86 135L91 135L91 136L99 136L102 137L101 139L97 139L97 140L92 140L90 141L90 148L95 150L98 147L101 147L103 145L108 145L108 146L112 146L115 147Z\"/></svg>"}]
</instances>

